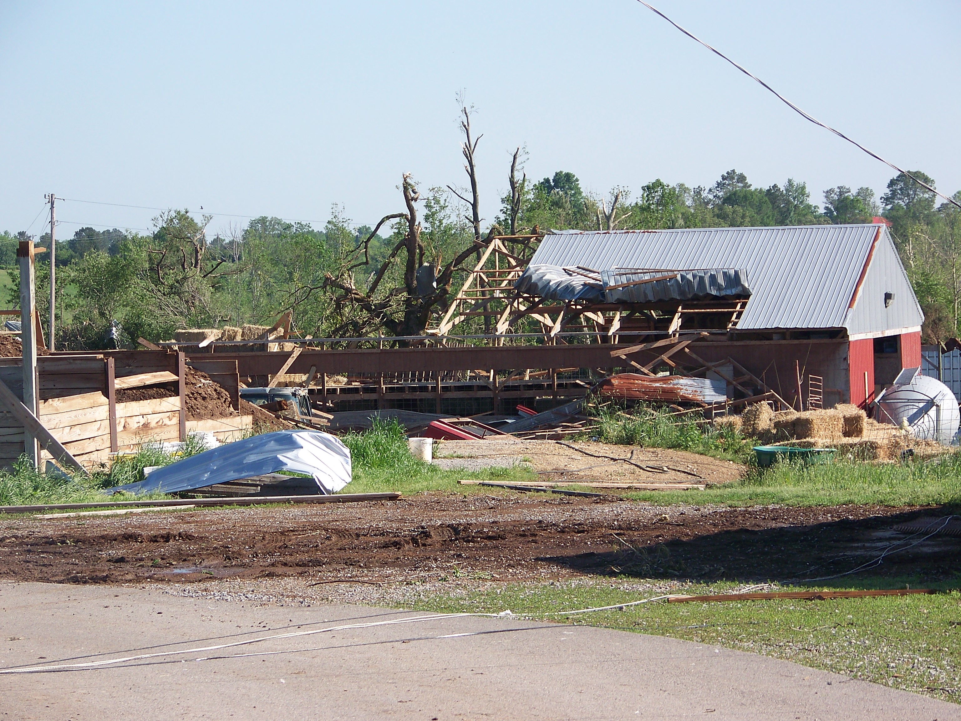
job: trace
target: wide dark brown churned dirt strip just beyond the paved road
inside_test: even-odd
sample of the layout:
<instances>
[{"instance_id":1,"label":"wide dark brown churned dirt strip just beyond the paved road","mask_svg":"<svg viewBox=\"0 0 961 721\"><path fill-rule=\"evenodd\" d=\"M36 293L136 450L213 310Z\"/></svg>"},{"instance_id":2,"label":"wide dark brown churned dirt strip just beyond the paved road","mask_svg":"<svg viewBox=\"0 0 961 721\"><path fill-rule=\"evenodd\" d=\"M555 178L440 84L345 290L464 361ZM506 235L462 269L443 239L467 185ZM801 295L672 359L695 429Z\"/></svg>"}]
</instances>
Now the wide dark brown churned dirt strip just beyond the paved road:
<instances>
[{"instance_id":1,"label":"wide dark brown churned dirt strip just beyond the paved road","mask_svg":"<svg viewBox=\"0 0 961 721\"><path fill-rule=\"evenodd\" d=\"M73 584L299 579L309 584L590 577L816 579L875 559L937 509L658 508L515 493L392 502L0 518L0 579ZM961 538L887 556L872 576L940 580Z\"/></svg>"}]
</instances>

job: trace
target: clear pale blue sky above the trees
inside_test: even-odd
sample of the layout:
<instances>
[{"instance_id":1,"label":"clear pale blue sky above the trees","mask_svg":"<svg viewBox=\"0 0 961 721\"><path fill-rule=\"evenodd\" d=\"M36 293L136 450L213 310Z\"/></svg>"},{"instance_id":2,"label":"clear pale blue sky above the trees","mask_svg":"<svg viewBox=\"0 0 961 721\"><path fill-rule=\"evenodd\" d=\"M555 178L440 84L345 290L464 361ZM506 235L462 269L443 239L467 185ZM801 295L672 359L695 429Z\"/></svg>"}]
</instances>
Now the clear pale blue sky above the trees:
<instances>
[{"instance_id":1,"label":"clear pale blue sky above the trees","mask_svg":"<svg viewBox=\"0 0 961 721\"><path fill-rule=\"evenodd\" d=\"M961 189L961 3L654 0L807 112ZM464 186L458 93L473 106L481 214L510 155L605 194L871 186L895 174L817 128L636 0L0 4L0 230L149 231L155 209L321 228L373 225L423 187ZM80 202L88 201L88 202ZM116 205L107 205L116 204ZM128 208L121 206L141 206Z\"/></svg>"}]
</instances>

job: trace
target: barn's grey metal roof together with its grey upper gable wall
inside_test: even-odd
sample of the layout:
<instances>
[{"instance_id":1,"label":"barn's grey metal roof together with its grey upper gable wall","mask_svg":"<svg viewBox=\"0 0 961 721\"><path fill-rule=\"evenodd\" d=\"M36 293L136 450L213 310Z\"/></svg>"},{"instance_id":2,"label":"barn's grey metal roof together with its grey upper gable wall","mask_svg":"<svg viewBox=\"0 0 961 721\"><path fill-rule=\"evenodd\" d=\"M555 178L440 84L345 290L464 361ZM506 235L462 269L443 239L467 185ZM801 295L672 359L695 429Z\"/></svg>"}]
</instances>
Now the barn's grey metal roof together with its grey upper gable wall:
<instances>
[{"instance_id":1,"label":"barn's grey metal roof together with its grey upper gable wall","mask_svg":"<svg viewBox=\"0 0 961 721\"><path fill-rule=\"evenodd\" d=\"M578 266L597 271L736 268L751 282L739 330L847 328L850 334L883 333L924 321L891 236L878 225L562 231L544 236L530 259L529 279L553 273L559 281L557 273L567 275L562 268ZM586 285L566 283L572 297L558 299L573 300ZM653 284L632 287L648 285ZM867 300L862 286L871 289ZM883 292L875 292L875 286L894 293L895 302L885 306Z\"/></svg>"}]
</instances>

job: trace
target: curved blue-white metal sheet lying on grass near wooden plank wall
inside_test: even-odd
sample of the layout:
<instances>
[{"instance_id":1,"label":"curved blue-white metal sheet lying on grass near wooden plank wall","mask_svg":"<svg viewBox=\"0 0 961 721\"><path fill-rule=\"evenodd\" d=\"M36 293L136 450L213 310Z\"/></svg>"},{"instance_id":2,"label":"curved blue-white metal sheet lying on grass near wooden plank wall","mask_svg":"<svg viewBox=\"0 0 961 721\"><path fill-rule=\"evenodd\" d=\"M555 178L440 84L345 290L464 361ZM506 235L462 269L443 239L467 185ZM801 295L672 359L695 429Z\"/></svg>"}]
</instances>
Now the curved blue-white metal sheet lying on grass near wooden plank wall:
<instances>
[{"instance_id":1,"label":"curved blue-white metal sheet lying on grass near wooden plank wall","mask_svg":"<svg viewBox=\"0 0 961 721\"><path fill-rule=\"evenodd\" d=\"M308 474L318 493L335 493L351 482L351 452L330 434L277 431L204 451L158 468L139 483L106 490L176 493L282 471Z\"/></svg>"}]
</instances>

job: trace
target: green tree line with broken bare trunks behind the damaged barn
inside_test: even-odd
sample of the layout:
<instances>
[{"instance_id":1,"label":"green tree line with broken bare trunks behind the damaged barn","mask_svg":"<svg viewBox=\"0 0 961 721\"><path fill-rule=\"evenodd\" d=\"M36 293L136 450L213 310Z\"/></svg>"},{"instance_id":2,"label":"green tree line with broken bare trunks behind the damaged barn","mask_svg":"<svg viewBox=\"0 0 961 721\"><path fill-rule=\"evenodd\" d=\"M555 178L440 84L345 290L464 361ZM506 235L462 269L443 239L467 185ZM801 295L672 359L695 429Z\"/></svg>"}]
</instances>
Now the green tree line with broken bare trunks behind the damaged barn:
<instances>
[{"instance_id":1,"label":"green tree line with broken bare trunks behind the damaged barn","mask_svg":"<svg viewBox=\"0 0 961 721\"><path fill-rule=\"evenodd\" d=\"M111 320L126 339L167 339L178 328L269 324L293 311L296 329L314 337L412 336L446 311L456 288L479 256L485 236L547 230L629 230L870 223L890 224L901 259L926 316L924 341L955 337L961 311L961 211L903 174L880 198L869 187L828 188L819 206L807 186L755 187L728 170L712 186L668 185L660 179L638 195L615 186L606 195L585 192L578 177L557 171L538 182L524 173L524 152L513 156L492 221L480 217L475 154L480 137L462 109L461 151L467 185L419 186L402 179L403 210L375 226L357 226L334 206L322 229L262 216L229 235L209 236L209 215L161 212L154 232L81 228L58 240L59 347L97 349ZM913 173L934 186L921 171ZM955 194L961 200L961 191ZM19 302L15 251L23 232L0 233L0 267ZM49 234L37 244L49 243ZM42 259L42 256L40 257ZM47 261L49 262L49 261ZM433 284L418 285L431 269ZM49 265L38 261L37 305L47 317ZM483 332L480 319L464 333Z\"/></svg>"}]
</instances>

